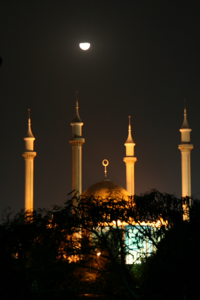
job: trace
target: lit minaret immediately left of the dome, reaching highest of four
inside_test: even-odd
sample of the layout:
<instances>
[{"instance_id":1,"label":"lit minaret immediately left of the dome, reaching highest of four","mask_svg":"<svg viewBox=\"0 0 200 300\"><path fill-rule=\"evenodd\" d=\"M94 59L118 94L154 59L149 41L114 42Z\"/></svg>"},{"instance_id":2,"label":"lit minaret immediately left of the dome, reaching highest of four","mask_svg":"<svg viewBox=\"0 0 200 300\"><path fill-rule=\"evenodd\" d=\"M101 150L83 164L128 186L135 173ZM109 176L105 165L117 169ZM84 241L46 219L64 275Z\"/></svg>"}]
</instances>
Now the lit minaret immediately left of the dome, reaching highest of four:
<instances>
[{"instance_id":1,"label":"lit minaret immediately left of the dome, reaching highest of four","mask_svg":"<svg viewBox=\"0 0 200 300\"><path fill-rule=\"evenodd\" d=\"M76 91L75 115L71 122L72 138L69 138L69 142L72 145L72 190L75 190L73 195L82 193L82 144L84 143L84 138L81 137L82 125L83 122L78 113Z\"/></svg>"}]
</instances>

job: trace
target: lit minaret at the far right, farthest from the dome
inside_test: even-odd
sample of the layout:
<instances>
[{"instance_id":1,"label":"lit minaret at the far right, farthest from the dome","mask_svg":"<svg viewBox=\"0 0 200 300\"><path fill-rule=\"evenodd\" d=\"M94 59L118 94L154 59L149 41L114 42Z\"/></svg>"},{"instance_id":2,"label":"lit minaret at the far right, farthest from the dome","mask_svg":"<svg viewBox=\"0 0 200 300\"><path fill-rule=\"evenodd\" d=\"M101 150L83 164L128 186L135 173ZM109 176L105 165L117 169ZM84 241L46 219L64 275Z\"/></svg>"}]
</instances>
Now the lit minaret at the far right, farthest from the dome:
<instances>
[{"instance_id":1,"label":"lit minaret at the far right, farthest from the dome","mask_svg":"<svg viewBox=\"0 0 200 300\"><path fill-rule=\"evenodd\" d=\"M181 168L182 168L182 197L191 196L191 168L190 168L190 152L193 145L190 144L190 131L187 122L186 107L184 107L184 120L181 128L181 144L178 149L181 151Z\"/></svg>"}]
</instances>

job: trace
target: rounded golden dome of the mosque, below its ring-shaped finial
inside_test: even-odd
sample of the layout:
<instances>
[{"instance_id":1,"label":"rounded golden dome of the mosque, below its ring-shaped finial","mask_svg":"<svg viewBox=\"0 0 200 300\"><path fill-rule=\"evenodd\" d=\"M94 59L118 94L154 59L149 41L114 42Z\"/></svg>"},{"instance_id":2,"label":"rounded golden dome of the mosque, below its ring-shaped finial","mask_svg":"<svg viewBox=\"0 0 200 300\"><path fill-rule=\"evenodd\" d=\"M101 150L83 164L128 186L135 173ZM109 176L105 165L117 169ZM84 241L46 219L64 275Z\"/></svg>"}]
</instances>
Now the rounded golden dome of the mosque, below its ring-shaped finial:
<instances>
[{"instance_id":1,"label":"rounded golden dome of the mosque, below its ring-shaped finial","mask_svg":"<svg viewBox=\"0 0 200 300\"><path fill-rule=\"evenodd\" d=\"M129 193L125 188L116 184L109 179L103 179L100 182L94 183L89 186L83 194L84 196L90 197L99 197L101 199L105 198L114 198L122 199L129 196Z\"/></svg>"}]
</instances>

